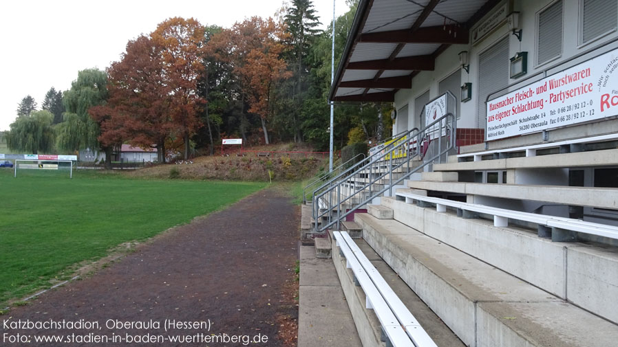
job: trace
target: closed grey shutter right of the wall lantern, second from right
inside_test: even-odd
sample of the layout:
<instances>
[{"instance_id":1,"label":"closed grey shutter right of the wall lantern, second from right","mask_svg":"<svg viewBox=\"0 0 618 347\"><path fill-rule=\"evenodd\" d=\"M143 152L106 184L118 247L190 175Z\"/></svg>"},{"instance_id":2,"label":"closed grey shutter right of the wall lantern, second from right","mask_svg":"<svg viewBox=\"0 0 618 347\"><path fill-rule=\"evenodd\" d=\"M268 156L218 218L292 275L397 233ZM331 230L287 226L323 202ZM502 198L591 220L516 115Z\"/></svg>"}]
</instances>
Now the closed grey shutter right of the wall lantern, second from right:
<instances>
[{"instance_id":1,"label":"closed grey shutter right of the wall lantern, second from right","mask_svg":"<svg viewBox=\"0 0 618 347\"><path fill-rule=\"evenodd\" d=\"M538 35L537 64L562 54L562 1L557 1L539 14Z\"/></svg>"}]
</instances>

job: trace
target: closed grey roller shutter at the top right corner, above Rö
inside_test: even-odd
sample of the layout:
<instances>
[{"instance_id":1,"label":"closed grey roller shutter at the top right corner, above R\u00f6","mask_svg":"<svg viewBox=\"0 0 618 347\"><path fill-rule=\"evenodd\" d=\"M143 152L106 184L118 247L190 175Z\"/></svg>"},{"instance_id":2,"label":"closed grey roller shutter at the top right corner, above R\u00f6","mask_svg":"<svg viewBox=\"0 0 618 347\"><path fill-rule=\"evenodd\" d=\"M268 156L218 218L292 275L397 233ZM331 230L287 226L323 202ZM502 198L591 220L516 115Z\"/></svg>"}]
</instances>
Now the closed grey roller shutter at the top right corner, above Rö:
<instances>
[{"instance_id":1,"label":"closed grey roller shutter at the top right corner, above R\u00f6","mask_svg":"<svg viewBox=\"0 0 618 347\"><path fill-rule=\"evenodd\" d=\"M582 43L615 29L618 24L618 1L584 0Z\"/></svg>"}]
</instances>

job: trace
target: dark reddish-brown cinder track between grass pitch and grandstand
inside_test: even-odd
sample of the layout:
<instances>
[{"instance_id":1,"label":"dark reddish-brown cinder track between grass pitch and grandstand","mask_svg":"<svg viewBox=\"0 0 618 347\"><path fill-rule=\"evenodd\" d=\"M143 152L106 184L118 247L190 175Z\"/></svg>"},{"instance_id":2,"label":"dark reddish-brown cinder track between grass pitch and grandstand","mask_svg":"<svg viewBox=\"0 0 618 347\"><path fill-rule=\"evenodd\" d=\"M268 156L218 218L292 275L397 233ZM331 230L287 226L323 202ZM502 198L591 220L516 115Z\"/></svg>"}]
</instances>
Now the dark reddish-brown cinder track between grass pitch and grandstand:
<instances>
[{"instance_id":1,"label":"dark reddish-brown cinder track between grass pitch and grandstand","mask_svg":"<svg viewBox=\"0 0 618 347\"><path fill-rule=\"evenodd\" d=\"M139 246L94 276L71 282L27 306L0 315L0 346L247 345L247 337L237 337L233 342L231 335L261 339L250 346L285 346L278 337L279 329L282 325L293 326L298 316L291 288L295 282L299 218L298 207L281 192L272 188L257 192L231 208L196 219ZM5 320L10 324L19 324L19 320L22 324L90 322L98 324L98 328L7 329L3 326ZM165 320L184 323L166 332ZM209 320L210 330L185 324ZM108 328L110 322L116 326ZM134 328L118 327L118 322L134 324ZM17 334L22 339L28 335L30 343L11 343ZM36 343L35 335L58 335L64 341ZM107 337L107 343L103 343L102 335ZM127 335L131 335L129 339L138 335L140 339L165 340L129 343ZM217 341L213 335L226 342ZM169 340L187 336L199 342ZM266 343L264 336L268 338ZM288 346L291 340L295 344L293 337L288 339ZM114 338L116 342L112 342ZM95 343L95 339L100 340Z\"/></svg>"}]
</instances>

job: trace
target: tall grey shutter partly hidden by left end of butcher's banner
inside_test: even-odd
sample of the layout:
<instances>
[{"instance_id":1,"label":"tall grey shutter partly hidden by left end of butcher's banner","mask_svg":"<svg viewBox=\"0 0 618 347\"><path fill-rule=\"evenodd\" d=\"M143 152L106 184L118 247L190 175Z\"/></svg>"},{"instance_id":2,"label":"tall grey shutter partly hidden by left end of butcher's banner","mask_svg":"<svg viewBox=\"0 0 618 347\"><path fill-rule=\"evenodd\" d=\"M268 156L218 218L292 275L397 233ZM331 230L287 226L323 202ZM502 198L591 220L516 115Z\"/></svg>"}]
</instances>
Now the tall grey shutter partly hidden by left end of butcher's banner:
<instances>
[{"instance_id":1,"label":"tall grey shutter partly hidden by left end of butcher's banner","mask_svg":"<svg viewBox=\"0 0 618 347\"><path fill-rule=\"evenodd\" d=\"M509 37L502 38L478 56L478 118L477 128L485 128L490 93L509 85Z\"/></svg>"}]
</instances>

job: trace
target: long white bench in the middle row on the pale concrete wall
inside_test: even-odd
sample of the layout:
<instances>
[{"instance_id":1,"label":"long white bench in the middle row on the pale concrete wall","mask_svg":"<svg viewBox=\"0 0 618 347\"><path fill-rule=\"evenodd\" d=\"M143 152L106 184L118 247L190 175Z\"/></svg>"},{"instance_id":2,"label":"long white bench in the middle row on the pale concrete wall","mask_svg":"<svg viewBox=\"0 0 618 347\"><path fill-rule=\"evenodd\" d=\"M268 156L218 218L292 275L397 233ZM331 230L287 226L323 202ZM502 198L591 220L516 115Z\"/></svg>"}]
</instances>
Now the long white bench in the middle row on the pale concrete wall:
<instances>
[{"instance_id":1,"label":"long white bench in the middle row on the pale concrete wall","mask_svg":"<svg viewBox=\"0 0 618 347\"><path fill-rule=\"evenodd\" d=\"M436 211L438 212L446 212L446 208L447 206L449 206L451 208L458 209L458 211L462 211L462 214L466 212L491 214L493 215L493 225L496 227L508 227L509 219L515 219L518 221L526 221L529 223L535 223L537 225L540 225L539 234L542 233L542 227L545 227L618 239L618 227L614 227L612 225L591 223L579 219L571 219L558 216L548 216L546 214L535 214L530 212L507 210L504 208L492 208L491 206L487 205L479 205L476 203L462 203L460 201L453 201L436 197L424 197L422 195L410 192L396 192L396 196L404 197L406 203L412 203L415 200L423 201L425 203L434 203L436 204Z\"/></svg>"}]
</instances>

